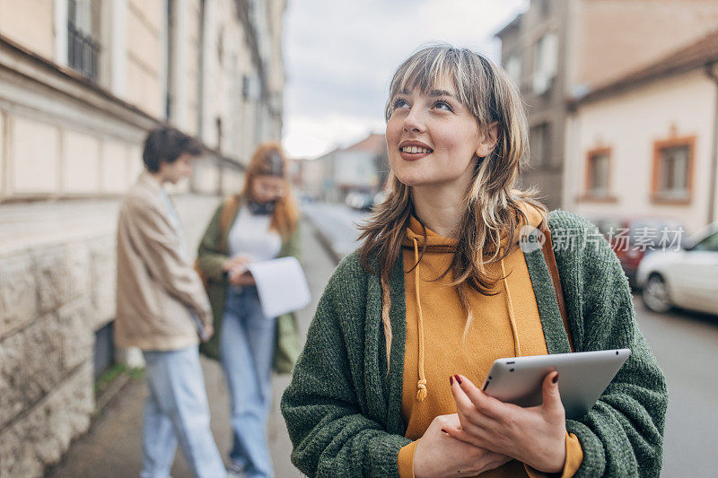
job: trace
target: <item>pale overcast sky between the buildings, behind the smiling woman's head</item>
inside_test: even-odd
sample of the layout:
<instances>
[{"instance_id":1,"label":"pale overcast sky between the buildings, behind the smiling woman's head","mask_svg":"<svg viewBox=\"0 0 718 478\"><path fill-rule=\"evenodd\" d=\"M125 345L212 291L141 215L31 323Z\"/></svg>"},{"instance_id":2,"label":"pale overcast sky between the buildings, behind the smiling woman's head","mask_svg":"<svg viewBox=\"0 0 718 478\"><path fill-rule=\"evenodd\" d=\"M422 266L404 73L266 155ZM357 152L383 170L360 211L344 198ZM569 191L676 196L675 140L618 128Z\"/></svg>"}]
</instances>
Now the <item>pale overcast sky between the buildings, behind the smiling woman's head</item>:
<instances>
[{"instance_id":1,"label":"pale overcast sky between the buildings, behind the smiling woman's head","mask_svg":"<svg viewBox=\"0 0 718 478\"><path fill-rule=\"evenodd\" d=\"M499 61L494 33L529 0L288 0L283 142L314 158L383 133L391 74L416 48L444 41Z\"/></svg>"}]
</instances>

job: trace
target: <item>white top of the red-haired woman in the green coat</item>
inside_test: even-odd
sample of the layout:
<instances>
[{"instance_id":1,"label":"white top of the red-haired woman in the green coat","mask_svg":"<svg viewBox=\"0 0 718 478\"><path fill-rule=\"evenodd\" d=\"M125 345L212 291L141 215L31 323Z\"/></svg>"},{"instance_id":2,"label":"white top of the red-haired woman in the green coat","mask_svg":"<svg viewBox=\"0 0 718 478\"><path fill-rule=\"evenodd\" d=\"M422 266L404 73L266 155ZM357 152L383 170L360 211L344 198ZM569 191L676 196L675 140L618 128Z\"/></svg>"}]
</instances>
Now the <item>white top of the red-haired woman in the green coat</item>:
<instances>
[{"instance_id":1,"label":"white top of the red-haired woman in the green coat","mask_svg":"<svg viewBox=\"0 0 718 478\"><path fill-rule=\"evenodd\" d=\"M271 221L271 214L252 214L250 208L242 204L227 237L230 257L245 254L254 261L268 261L278 256L282 237L276 230L269 230Z\"/></svg>"}]
</instances>

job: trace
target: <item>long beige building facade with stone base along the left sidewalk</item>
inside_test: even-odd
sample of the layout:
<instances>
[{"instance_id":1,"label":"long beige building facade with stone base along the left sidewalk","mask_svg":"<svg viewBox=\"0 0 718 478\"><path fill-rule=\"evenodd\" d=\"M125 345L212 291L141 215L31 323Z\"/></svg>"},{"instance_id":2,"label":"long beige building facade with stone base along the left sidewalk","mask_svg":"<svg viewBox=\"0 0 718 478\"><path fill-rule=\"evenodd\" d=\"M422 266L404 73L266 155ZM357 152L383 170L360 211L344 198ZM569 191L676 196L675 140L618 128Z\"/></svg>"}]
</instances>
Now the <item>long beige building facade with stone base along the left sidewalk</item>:
<instances>
[{"instance_id":1,"label":"long beige building facade with stone base along the left sidewalk","mask_svg":"<svg viewBox=\"0 0 718 478\"><path fill-rule=\"evenodd\" d=\"M285 0L0 0L0 477L87 430L114 362L118 200L159 123L206 153L174 188L191 248L279 141ZM124 355L124 354L121 354Z\"/></svg>"}]
</instances>

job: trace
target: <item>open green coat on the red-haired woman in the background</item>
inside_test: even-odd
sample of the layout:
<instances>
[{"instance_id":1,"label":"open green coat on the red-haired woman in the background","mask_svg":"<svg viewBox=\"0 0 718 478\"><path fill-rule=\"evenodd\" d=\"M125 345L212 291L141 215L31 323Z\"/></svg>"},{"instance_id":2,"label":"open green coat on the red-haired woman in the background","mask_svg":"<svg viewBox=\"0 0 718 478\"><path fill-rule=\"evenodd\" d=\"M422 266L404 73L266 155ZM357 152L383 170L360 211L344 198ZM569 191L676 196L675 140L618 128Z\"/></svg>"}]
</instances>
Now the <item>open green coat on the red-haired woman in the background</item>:
<instances>
[{"instance_id":1,"label":"open green coat on the red-haired woman in the background","mask_svg":"<svg viewBox=\"0 0 718 478\"><path fill-rule=\"evenodd\" d=\"M207 357L219 360L219 337L222 334L222 320L224 317L224 300L227 291L227 274L222 270L224 261L229 257L227 236L232 225L237 219L237 214L232 214L226 230L222 231L220 218L223 207L226 203L220 204L212 216L205 231L205 236L199 243L197 251L197 265L206 278L206 290L209 302L212 305L214 318L215 335L206 342L199 345L200 352ZM239 208L238 208L239 211ZM282 243L279 252L280 257L294 256L299 258L299 225L294 231L293 237ZM297 332L297 319L294 313L285 314L276 319L276 340L273 368L277 373L292 372L294 363L299 355L299 334Z\"/></svg>"}]
</instances>

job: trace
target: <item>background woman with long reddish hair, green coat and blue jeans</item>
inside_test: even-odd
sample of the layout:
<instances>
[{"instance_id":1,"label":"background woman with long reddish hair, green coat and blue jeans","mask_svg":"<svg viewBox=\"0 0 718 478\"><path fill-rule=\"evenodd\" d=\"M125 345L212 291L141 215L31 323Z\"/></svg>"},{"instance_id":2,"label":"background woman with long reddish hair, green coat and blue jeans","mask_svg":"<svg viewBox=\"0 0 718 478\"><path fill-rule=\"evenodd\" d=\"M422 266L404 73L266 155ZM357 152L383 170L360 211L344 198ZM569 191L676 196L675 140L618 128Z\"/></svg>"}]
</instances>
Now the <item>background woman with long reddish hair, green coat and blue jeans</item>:
<instances>
[{"instance_id":1,"label":"background woman with long reddish hair, green coat and blue jeans","mask_svg":"<svg viewBox=\"0 0 718 478\"><path fill-rule=\"evenodd\" d=\"M201 352L220 360L230 390L233 446L230 472L273 476L267 444L271 371L288 373L298 352L293 314L265 317L247 265L298 256L299 212L281 146L260 144L240 194L221 204L199 246L215 336Z\"/></svg>"}]
</instances>

